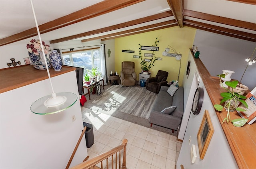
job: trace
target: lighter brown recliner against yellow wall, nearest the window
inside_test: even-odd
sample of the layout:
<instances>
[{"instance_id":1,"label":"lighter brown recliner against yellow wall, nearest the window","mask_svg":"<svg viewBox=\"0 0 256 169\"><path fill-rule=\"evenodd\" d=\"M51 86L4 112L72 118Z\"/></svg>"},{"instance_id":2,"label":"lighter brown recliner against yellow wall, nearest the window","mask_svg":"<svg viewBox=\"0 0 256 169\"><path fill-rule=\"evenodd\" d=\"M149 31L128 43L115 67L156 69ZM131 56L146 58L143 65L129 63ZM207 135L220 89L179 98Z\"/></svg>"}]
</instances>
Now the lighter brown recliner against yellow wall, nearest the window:
<instances>
[{"instance_id":1,"label":"lighter brown recliner against yellow wall, nearest the window","mask_svg":"<svg viewBox=\"0 0 256 169\"><path fill-rule=\"evenodd\" d=\"M135 86L137 75L134 72L135 63L124 61L122 62L122 70L120 73L121 85L123 86Z\"/></svg>"}]
</instances>

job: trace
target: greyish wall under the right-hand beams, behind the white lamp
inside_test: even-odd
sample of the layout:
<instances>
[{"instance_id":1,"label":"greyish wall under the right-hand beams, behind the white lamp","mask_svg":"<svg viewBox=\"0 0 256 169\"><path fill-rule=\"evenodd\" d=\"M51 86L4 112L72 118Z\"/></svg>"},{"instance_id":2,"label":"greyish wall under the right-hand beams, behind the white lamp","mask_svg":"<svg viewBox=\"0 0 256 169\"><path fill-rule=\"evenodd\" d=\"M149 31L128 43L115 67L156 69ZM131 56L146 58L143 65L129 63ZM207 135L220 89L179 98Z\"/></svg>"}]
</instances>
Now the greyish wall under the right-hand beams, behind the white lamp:
<instances>
[{"instance_id":1,"label":"greyish wall under the right-hand beams, behind the white lamp","mask_svg":"<svg viewBox=\"0 0 256 169\"><path fill-rule=\"evenodd\" d=\"M230 70L235 72L231 78L238 81L241 80L247 66L244 59L251 57L256 47L255 42L202 30L196 31L194 45L198 46L199 57L212 76L221 74L222 70ZM252 59L255 57L256 52ZM250 90L256 86L255 75L256 63L248 66L242 79L242 83Z\"/></svg>"}]
</instances>

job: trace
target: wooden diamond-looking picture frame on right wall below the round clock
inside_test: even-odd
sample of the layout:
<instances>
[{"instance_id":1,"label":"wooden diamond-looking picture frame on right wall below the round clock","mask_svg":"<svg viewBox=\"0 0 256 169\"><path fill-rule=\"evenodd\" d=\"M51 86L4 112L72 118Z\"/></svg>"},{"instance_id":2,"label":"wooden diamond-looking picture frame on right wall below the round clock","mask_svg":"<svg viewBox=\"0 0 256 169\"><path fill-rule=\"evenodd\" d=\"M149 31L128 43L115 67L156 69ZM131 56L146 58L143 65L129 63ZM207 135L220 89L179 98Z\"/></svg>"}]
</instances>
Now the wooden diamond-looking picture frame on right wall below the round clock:
<instances>
[{"instance_id":1,"label":"wooden diamond-looking picture frame on right wall below the round clock","mask_svg":"<svg viewBox=\"0 0 256 169\"><path fill-rule=\"evenodd\" d=\"M197 141L200 153L200 159L204 159L204 155L211 141L214 128L208 110L204 111L204 116L200 128L197 133Z\"/></svg>"}]
</instances>

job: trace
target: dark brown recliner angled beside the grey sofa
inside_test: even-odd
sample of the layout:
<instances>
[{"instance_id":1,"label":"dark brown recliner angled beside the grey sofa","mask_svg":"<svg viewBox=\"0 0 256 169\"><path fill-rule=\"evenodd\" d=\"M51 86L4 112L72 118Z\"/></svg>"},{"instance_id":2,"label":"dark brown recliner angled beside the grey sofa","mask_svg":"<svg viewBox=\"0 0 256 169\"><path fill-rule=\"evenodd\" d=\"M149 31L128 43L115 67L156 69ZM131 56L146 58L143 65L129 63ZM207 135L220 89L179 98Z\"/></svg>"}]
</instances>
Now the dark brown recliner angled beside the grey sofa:
<instances>
[{"instance_id":1,"label":"dark brown recliner angled beside the grey sofa","mask_svg":"<svg viewBox=\"0 0 256 169\"><path fill-rule=\"evenodd\" d=\"M148 78L146 82L146 89L150 90L151 92L154 92L156 94L159 93L161 86L167 86L167 77L168 72L166 71L158 71L156 77L150 77Z\"/></svg>"}]
</instances>

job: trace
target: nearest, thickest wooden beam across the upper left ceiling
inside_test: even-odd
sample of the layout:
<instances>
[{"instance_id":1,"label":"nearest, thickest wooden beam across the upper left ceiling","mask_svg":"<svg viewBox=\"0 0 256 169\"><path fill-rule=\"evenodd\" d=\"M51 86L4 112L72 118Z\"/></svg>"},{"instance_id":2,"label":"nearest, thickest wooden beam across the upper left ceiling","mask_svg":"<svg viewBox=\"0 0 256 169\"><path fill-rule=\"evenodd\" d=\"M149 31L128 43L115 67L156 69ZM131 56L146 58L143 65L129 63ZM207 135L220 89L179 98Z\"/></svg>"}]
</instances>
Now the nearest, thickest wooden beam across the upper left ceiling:
<instances>
[{"instance_id":1,"label":"nearest, thickest wooden beam across the upper left ceiling","mask_svg":"<svg viewBox=\"0 0 256 169\"><path fill-rule=\"evenodd\" d=\"M100 16L102 14L106 14L108 12L112 12L114 10L118 10L142 1L144 0L104 0L82 10L73 12L72 14L40 25L40 33L46 33L64 26L75 24L77 22ZM36 27L0 39L0 46L33 37L35 35L37 35Z\"/></svg>"}]
</instances>

